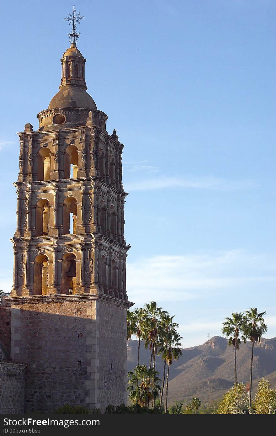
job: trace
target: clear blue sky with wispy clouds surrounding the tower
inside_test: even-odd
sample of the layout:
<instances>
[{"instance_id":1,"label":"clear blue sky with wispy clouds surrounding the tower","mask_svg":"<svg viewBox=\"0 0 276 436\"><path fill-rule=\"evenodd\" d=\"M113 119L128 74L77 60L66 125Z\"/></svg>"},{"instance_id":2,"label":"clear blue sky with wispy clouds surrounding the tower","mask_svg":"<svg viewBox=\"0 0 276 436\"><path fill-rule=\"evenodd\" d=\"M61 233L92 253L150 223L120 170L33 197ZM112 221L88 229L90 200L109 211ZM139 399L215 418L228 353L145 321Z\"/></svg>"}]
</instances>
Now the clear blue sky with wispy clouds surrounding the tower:
<instances>
[{"instance_id":1,"label":"clear blue sky with wispy clouds surrounding the tower","mask_svg":"<svg viewBox=\"0 0 276 436\"><path fill-rule=\"evenodd\" d=\"M276 3L78 1L88 92L123 150L127 291L183 347L266 310L276 336ZM3 3L0 289L12 283L19 143L58 91L68 1Z\"/></svg>"}]
</instances>

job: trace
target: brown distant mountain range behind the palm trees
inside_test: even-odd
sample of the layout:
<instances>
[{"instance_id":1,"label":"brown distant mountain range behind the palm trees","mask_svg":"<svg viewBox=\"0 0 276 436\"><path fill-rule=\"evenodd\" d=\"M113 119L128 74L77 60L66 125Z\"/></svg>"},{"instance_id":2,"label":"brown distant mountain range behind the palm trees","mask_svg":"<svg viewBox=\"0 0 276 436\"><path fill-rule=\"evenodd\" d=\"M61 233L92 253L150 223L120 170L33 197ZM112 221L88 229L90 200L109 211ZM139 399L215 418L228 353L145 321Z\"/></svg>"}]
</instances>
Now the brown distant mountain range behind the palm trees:
<instances>
[{"instance_id":1,"label":"brown distant mountain range behind the palm trees","mask_svg":"<svg viewBox=\"0 0 276 436\"><path fill-rule=\"evenodd\" d=\"M127 370L137 364L138 341L129 341L127 347ZM183 355L170 368L169 399L189 402L196 396L201 401L220 399L234 383L234 350L224 337L214 336L198 347L182 349ZM249 382L251 342L241 344L237 351L238 381ZM150 352L140 346L140 364L149 365ZM157 356L156 369L163 375L164 362ZM276 388L276 337L262 338L254 346L253 391L259 378L266 377ZM254 392L253 392L254 393Z\"/></svg>"}]
</instances>

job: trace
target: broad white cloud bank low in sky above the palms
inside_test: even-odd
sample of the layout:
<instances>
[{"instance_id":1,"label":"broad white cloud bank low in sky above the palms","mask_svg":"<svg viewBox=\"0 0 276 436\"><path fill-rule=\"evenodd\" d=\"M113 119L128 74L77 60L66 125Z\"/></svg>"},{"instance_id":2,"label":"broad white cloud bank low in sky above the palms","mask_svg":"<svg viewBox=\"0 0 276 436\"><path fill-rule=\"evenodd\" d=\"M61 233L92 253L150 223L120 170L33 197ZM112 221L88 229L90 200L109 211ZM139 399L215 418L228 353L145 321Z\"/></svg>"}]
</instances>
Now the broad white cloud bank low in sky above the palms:
<instances>
[{"instance_id":1,"label":"broad white cloud bank low in sky above the palms","mask_svg":"<svg viewBox=\"0 0 276 436\"><path fill-rule=\"evenodd\" d=\"M276 266L271 259L271 256L231 250L157 255L128 262L129 300L143 304L150 296L150 300L158 302L177 302L202 299L225 290L233 292L256 283L275 283Z\"/></svg>"}]
</instances>

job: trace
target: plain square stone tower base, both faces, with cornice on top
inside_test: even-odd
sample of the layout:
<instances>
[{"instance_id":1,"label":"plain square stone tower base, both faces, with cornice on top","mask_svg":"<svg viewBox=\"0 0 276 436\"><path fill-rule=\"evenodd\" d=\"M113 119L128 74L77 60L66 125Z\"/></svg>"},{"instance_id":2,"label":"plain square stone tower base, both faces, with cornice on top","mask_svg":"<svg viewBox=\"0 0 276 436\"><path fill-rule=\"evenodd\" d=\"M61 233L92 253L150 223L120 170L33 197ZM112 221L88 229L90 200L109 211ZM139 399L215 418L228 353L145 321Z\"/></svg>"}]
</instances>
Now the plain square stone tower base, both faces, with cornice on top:
<instances>
[{"instance_id":1,"label":"plain square stone tower base, both faces, with cornice on top","mask_svg":"<svg viewBox=\"0 0 276 436\"><path fill-rule=\"evenodd\" d=\"M11 298L11 358L27 364L25 412L126 402L126 310L102 294Z\"/></svg>"}]
</instances>

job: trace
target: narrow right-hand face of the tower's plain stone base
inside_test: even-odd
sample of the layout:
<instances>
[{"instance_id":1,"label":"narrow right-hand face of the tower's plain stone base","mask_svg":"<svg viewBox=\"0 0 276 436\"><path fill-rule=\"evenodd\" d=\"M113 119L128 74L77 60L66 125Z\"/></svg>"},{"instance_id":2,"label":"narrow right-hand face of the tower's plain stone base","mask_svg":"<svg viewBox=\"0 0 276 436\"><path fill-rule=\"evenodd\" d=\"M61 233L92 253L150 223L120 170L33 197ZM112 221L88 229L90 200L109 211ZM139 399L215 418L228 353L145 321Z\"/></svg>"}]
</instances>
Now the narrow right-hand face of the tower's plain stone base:
<instances>
[{"instance_id":1,"label":"narrow right-hand face of the tower's plain stone base","mask_svg":"<svg viewBox=\"0 0 276 436\"><path fill-rule=\"evenodd\" d=\"M98 401L107 405L126 404L126 308L97 303L99 317Z\"/></svg>"}]
</instances>

